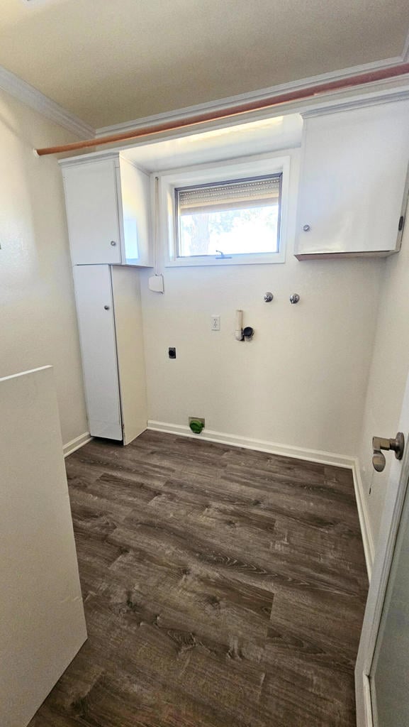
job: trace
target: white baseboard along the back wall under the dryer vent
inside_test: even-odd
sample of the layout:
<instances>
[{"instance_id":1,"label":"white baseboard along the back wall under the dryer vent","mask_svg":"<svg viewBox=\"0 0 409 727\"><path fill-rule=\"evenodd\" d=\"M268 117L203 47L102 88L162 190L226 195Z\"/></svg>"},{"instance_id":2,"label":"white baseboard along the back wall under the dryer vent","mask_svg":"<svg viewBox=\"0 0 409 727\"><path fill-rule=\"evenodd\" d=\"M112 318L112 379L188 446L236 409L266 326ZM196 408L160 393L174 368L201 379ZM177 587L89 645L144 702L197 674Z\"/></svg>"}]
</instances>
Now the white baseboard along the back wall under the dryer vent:
<instances>
[{"instance_id":1,"label":"white baseboard along the back wall under the dryer vent","mask_svg":"<svg viewBox=\"0 0 409 727\"><path fill-rule=\"evenodd\" d=\"M197 435L193 434L190 428L185 425L169 424L167 422L153 422L152 420L147 422L147 428L153 429L157 432L178 434L182 437L200 438L206 439L208 442L218 442L219 444L228 444L233 447L243 447L243 449L256 449L261 452L281 454L283 457L293 457L293 459L307 459L309 462L317 462L320 465L348 467L350 470L352 470L355 462L355 457L345 457L344 454L333 454L332 452L323 452L317 449L301 449L301 447L277 444L275 442L264 441L263 439L240 437L235 434L216 432L211 429L203 429L203 432L200 435Z\"/></svg>"}]
</instances>

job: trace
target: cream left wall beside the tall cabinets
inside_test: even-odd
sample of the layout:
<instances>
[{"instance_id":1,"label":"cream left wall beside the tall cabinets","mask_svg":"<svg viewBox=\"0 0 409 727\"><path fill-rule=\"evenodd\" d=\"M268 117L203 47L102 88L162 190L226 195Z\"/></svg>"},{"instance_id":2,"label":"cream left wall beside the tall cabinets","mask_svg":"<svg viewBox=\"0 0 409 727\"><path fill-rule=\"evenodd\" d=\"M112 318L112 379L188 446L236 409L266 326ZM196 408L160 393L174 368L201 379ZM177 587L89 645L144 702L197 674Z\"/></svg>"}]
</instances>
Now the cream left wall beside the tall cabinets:
<instances>
[{"instance_id":1,"label":"cream left wall beside the tall cabinets","mask_svg":"<svg viewBox=\"0 0 409 727\"><path fill-rule=\"evenodd\" d=\"M87 424L62 177L33 147L73 140L0 92L0 376L54 366L64 443Z\"/></svg>"}]
</instances>

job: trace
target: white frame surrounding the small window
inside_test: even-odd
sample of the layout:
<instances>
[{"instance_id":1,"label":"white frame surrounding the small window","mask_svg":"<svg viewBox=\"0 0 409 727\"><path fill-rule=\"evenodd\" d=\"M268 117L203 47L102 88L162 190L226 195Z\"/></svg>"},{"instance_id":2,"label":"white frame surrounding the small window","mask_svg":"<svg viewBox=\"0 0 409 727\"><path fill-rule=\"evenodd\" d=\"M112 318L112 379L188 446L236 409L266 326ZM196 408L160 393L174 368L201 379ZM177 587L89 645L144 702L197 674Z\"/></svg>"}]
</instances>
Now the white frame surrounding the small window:
<instances>
[{"instance_id":1,"label":"white frame surrounding the small window","mask_svg":"<svg viewBox=\"0 0 409 727\"><path fill-rule=\"evenodd\" d=\"M248 177L259 177L264 174L283 174L280 198L280 249L278 252L232 254L231 257L230 253L229 257L211 255L177 257L177 209L174 191L176 188L207 184L208 182L248 179ZM153 179L154 177L159 177L159 230L161 239L164 238L166 241L166 268L191 268L201 265L218 265L219 267L265 265L266 263L286 262L290 156L264 154L217 164L202 164L188 169L174 169L164 174L153 174Z\"/></svg>"}]
</instances>

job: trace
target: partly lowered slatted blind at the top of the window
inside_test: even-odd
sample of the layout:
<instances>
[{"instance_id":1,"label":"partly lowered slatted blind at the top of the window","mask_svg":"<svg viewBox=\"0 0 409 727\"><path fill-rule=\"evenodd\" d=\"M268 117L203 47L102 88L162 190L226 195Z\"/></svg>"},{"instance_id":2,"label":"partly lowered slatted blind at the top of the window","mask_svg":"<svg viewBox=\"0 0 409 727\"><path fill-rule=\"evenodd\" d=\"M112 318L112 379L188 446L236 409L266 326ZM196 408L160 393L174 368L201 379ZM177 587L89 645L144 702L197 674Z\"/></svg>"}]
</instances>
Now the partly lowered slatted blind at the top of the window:
<instances>
[{"instance_id":1,"label":"partly lowered slatted blind at the top of the window","mask_svg":"<svg viewBox=\"0 0 409 727\"><path fill-rule=\"evenodd\" d=\"M268 177L178 188L175 193L179 214L276 205L280 201L282 176L272 174Z\"/></svg>"}]
</instances>

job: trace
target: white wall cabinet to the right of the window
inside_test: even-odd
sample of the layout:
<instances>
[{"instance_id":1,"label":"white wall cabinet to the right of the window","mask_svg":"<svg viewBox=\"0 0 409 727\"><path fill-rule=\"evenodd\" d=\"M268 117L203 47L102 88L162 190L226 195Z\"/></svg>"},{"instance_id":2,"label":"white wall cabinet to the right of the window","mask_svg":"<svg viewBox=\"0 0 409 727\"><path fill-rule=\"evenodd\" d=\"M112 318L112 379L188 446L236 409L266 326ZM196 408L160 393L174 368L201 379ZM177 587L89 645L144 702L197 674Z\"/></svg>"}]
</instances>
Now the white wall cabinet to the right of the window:
<instances>
[{"instance_id":1,"label":"white wall cabinet to the right of the window","mask_svg":"<svg viewBox=\"0 0 409 727\"><path fill-rule=\"evenodd\" d=\"M306 115L295 254L397 252L407 201L409 102Z\"/></svg>"}]
</instances>

